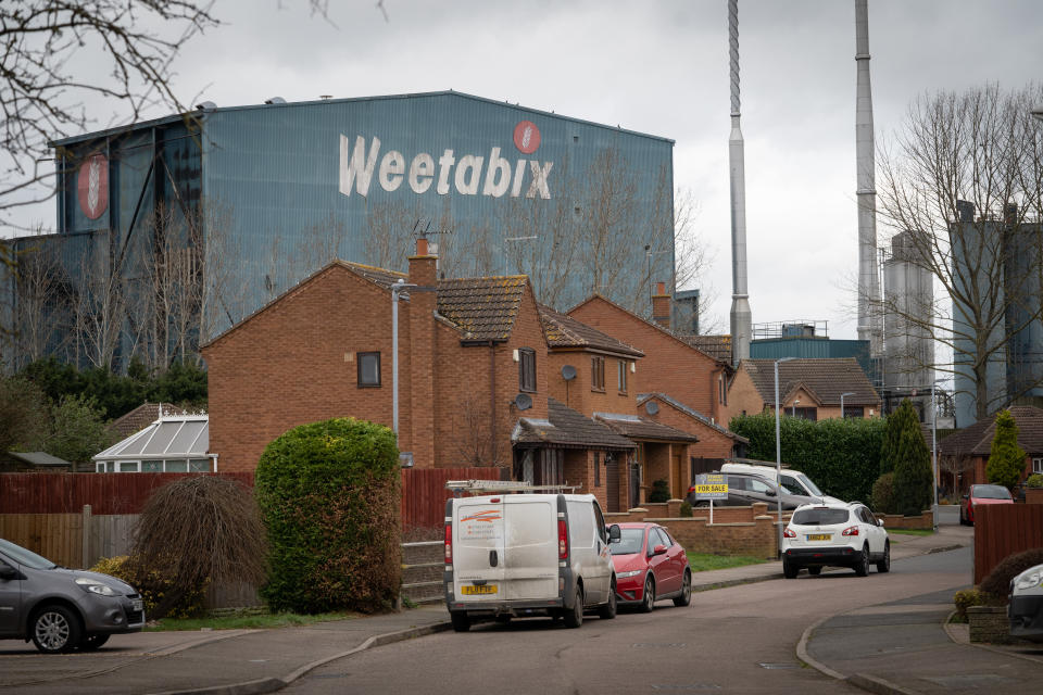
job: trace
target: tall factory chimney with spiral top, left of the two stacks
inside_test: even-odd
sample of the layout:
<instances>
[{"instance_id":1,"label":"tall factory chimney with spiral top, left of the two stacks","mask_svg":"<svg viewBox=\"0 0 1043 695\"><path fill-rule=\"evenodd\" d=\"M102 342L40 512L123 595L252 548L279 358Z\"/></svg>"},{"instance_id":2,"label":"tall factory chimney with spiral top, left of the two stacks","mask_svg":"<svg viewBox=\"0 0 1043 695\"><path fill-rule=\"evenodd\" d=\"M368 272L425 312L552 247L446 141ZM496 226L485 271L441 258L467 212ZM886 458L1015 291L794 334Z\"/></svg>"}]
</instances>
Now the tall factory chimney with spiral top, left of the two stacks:
<instances>
[{"instance_id":1,"label":"tall factory chimney with spiral top, left of the two stacks","mask_svg":"<svg viewBox=\"0 0 1043 695\"><path fill-rule=\"evenodd\" d=\"M731 135L728 164L731 169L731 362L750 358L753 316L746 290L746 174L742 130L739 128L739 3L728 0L728 42L731 77Z\"/></svg>"}]
</instances>

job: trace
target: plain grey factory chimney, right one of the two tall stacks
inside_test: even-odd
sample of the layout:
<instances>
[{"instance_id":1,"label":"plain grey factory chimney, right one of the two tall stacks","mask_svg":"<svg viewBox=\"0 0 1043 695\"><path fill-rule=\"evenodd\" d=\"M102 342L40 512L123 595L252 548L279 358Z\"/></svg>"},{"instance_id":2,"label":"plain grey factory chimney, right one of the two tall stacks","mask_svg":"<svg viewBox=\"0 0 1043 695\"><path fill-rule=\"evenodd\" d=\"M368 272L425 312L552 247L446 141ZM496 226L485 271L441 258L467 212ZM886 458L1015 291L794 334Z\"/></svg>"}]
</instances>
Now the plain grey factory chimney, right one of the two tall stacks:
<instances>
[{"instance_id":1,"label":"plain grey factory chimney, right one of the two tall stacks","mask_svg":"<svg viewBox=\"0 0 1043 695\"><path fill-rule=\"evenodd\" d=\"M877 189L872 144L872 89L869 85L869 10L855 0L855 148L858 169L858 340L869 341L869 354L881 354L880 280L877 274Z\"/></svg>"}]
</instances>

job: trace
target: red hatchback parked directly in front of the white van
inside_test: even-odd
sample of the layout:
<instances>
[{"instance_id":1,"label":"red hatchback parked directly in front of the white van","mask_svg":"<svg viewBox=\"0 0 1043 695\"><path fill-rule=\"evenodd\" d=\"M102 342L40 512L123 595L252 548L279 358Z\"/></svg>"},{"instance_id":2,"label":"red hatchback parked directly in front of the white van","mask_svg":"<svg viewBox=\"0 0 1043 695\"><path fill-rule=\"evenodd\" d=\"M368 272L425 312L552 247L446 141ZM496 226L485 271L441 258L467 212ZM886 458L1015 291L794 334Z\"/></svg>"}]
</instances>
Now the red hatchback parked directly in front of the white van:
<instances>
[{"instance_id":1,"label":"red hatchback parked directly in front of the white van","mask_svg":"<svg viewBox=\"0 0 1043 695\"><path fill-rule=\"evenodd\" d=\"M673 598L675 606L692 601L692 569L688 555L657 523L620 523L620 538L608 545L616 568L616 602L639 606Z\"/></svg>"}]
</instances>

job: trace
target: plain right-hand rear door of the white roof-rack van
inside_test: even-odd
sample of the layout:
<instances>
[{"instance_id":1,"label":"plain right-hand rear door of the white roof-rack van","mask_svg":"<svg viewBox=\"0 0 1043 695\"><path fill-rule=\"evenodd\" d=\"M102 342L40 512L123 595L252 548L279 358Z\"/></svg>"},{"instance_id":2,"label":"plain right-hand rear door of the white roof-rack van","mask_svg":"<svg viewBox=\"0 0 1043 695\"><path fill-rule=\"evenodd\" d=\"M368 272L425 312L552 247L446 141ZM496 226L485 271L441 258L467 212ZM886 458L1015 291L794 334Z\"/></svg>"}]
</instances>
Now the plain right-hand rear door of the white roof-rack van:
<instances>
[{"instance_id":1,"label":"plain right-hand rear door of the white roof-rack van","mask_svg":"<svg viewBox=\"0 0 1043 695\"><path fill-rule=\"evenodd\" d=\"M503 597L556 598L557 495L506 495L503 501Z\"/></svg>"}]
</instances>

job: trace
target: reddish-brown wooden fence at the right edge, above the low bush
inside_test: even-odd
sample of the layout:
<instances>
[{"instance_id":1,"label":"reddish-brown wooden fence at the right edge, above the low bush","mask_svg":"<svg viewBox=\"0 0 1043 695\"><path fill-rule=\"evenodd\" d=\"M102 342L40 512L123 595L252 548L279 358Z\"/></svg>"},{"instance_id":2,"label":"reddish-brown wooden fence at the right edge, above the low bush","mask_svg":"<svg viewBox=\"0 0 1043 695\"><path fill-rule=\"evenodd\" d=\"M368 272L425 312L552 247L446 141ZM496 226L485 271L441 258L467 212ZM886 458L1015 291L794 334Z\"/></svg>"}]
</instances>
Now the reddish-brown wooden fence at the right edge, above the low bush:
<instances>
[{"instance_id":1,"label":"reddish-brown wooden fence at the right edge, above the low bush","mask_svg":"<svg viewBox=\"0 0 1043 695\"><path fill-rule=\"evenodd\" d=\"M1043 547L1043 505L980 504L975 507L975 583L1003 558Z\"/></svg>"}]
</instances>

